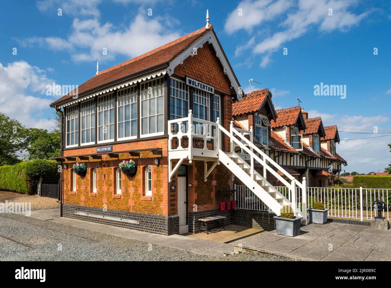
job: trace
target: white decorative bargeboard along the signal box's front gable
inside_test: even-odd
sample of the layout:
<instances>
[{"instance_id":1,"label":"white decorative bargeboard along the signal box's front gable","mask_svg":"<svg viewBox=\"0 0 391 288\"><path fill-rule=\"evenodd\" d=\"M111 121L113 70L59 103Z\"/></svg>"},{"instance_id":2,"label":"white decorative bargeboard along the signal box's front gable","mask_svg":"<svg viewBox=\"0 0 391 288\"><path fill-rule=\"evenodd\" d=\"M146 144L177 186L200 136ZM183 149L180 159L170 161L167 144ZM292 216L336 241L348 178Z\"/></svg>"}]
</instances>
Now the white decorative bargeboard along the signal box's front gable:
<instances>
[{"instance_id":1,"label":"white decorative bargeboard along the signal box's front gable","mask_svg":"<svg viewBox=\"0 0 391 288\"><path fill-rule=\"evenodd\" d=\"M230 79L231 87L235 90L238 96L238 100L239 101L242 100L242 96L243 96L242 87L240 87L239 82L236 80L233 71L230 68L230 65L228 64L228 59L224 56L224 53L220 48L219 42L217 41L217 38L215 34L212 33L212 31L209 31L204 36L202 36L199 40L197 40L197 42L195 42L193 45L188 47L183 53L181 53L170 63L169 67L167 67L167 72L169 76L171 76L174 73L175 67L177 67L179 64L183 64L183 61L187 57L196 56L197 49L202 48L206 42L213 45L213 48L216 51L216 56L217 58L220 59L224 74L226 74L228 76L228 79Z\"/></svg>"}]
</instances>

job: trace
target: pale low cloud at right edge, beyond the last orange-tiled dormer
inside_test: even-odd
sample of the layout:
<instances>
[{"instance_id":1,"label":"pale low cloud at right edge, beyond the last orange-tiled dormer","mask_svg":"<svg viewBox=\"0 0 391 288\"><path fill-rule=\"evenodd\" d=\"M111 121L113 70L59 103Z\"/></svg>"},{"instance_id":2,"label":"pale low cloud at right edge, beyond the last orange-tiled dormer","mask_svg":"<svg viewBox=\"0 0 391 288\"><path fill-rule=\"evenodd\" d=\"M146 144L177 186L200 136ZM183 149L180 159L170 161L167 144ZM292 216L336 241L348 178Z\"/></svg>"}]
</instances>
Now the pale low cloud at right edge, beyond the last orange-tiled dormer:
<instances>
[{"instance_id":1,"label":"pale low cloud at right edge, beyond the last orange-tiled dormer","mask_svg":"<svg viewBox=\"0 0 391 288\"><path fill-rule=\"evenodd\" d=\"M382 136L383 134L348 134L341 132L371 132L370 130L373 130L374 126L378 126L378 129L381 130L381 125L386 125L386 123L390 121L388 117L382 115L338 115L321 113L317 110L308 111L308 117L312 118L316 116L322 117L322 122L325 126L337 125L341 140L352 139L341 141L336 148L337 153L348 161L348 167L343 169L349 172L357 171L359 173L368 173L378 169L383 170L384 167L388 166L390 152L387 144L391 143L391 136L368 138Z\"/></svg>"}]
</instances>

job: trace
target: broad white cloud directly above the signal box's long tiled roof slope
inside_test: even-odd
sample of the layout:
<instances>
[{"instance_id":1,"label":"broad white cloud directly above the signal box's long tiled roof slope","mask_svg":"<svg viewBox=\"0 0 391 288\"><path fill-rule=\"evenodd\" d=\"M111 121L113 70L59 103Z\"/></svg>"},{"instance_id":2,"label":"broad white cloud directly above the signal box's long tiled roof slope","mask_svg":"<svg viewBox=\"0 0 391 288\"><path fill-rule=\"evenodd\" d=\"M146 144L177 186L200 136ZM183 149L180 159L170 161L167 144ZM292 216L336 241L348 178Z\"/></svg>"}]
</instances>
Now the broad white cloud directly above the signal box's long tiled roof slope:
<instances>
[{"instance_id":1,"label":"broad white cloud directly above the signal box's long tiled roof slope","mask_svg":"<svg viewBox=\"0 0 391 288\"><path fill-rule=\"evenodd\" d=\"M69 51L72 60L79 62L113 60L118 54L133 58L180 37L177 31L167 31L164 18L149 19L145 15L145 11L140 9L125 29L109 22L100 24L97 18L75 18L72 33L66 39L36 37L23 40L22 43L39 43L54 51ZM103 54L103 49L107 49L107 55Z\"/></svg>"}]
</instances>

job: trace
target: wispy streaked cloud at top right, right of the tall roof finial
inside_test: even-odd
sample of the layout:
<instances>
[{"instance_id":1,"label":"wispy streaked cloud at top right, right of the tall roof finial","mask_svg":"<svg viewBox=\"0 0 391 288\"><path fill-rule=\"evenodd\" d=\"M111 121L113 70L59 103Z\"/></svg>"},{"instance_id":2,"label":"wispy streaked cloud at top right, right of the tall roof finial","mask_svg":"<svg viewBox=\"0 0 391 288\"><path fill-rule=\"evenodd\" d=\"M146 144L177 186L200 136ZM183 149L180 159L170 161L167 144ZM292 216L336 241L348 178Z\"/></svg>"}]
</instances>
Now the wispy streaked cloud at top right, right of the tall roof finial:
<instances>
[{"instance_id":1,"label":"wispy streaked cloud at top right, right of the tall roof finial","mask_svg":"<svg viewBox=\"0 0 391 288\"><path fill-rule=\"evenodd\" d=\"M243 53L246 49L252 49L253 54L266 53L267 55L260 63L260 67L265 68L271 61L271 53L282 48L286 42L303 36L313 26L317 26L319 32L325 33L334 30L345 32L358 25L362 19L369 15L370 11L361 14L348 11L356 2L355 0L299 0L297 4L292 4L291 1L281 0L271 4L271 1L245 0L240 2L237 8L228 15L225 30L227 33L233 33L240 29L252 31L259 28L261 23L264 28L268 22L271 22L272 27L282 27L281 31L270 36L266 35L263 40L258 40L256 43L252 37L248 43L238 46L235 51L235 55ZM243 11L251 10L251 13L246 17L237 16L238 7L246 7L246 10ZM288 8L289 11L287 11ZM332 16L329 16L328 10L330 8L333 9ZM261 9L262 12L259 12L258 9ZM287 13L286 16L285 13ZM286 18L276 25L272 23L276 21L276 16L285 16Z\"/></svg>"}]
</instances>

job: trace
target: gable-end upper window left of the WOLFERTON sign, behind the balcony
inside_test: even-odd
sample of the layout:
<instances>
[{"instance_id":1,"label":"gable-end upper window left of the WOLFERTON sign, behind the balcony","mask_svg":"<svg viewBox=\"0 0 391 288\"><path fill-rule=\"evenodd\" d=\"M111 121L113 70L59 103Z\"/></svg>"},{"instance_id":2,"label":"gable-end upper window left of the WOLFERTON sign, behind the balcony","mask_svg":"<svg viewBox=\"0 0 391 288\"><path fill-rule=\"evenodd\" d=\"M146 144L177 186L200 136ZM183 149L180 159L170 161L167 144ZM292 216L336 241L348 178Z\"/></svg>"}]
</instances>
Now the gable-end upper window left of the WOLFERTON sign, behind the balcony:
<instances>
[{"instance_id":1,"label":"gable-end upper window left of the WOLFERTON sign, behind the balcony","mask_svg":"<svg viewBox=\"0 0 391 288\"><path fill-rule=\"evenodd\" d=\"M170 78L170 120L185 118L188 114L188 92L185 82ZM186 132L187 123L183 123ZM178 132L178 125L173 125L171 131Z\"/></svg>"}]
</instances>

